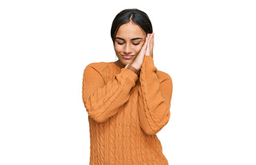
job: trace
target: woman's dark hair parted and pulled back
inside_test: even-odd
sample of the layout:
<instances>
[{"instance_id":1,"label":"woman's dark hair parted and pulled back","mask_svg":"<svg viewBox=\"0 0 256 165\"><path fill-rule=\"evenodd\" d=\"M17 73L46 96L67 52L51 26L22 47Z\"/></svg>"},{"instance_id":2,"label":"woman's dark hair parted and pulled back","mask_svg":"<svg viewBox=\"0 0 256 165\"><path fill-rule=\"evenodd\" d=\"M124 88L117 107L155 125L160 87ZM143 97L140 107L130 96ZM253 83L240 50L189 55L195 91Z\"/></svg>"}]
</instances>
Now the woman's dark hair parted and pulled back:
<instances>
[{"instance_id":1,"label":"woman's dark hair parted and pulled back","mask_svg":"<svg viewBox=\"0 0 256 165\"><path fill-rule=\"evenodd\" d=\"M134 23L139 25L140 28L142 28L142 30L146 32L146 34L153 32L151 21L145 12L142 12L141 10L138 10L136 8L125 9L116 15L112 23L111 38L113 43L115 41L116 33L118 32L120 26L122 24L129 23L129 21L133 21Z\"/></svg>"}]
</instances>

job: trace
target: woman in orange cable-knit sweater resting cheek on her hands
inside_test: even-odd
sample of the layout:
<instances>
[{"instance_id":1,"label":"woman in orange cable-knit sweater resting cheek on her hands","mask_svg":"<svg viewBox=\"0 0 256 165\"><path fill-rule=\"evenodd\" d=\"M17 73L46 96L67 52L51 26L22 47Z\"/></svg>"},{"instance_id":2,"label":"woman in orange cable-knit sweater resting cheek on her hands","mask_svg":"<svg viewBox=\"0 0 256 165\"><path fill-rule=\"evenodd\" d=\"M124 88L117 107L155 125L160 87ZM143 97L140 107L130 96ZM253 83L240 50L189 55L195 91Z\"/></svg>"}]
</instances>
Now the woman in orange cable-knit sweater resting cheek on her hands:
<instances>
[{"instance_id":1,"label":"woman in orange cable-knit sweater resting cheek on her hands","mask_svg":"<svg viewBox=\"0 0 256 165\"><path fill-rule=\"evenodd\" d=\"M169 122L173 83L154 66L153 36L145 12L122 10L111 27L119 60L85 67L89 164L168 164L156 133Z\"/></svg>"}]
</instances>

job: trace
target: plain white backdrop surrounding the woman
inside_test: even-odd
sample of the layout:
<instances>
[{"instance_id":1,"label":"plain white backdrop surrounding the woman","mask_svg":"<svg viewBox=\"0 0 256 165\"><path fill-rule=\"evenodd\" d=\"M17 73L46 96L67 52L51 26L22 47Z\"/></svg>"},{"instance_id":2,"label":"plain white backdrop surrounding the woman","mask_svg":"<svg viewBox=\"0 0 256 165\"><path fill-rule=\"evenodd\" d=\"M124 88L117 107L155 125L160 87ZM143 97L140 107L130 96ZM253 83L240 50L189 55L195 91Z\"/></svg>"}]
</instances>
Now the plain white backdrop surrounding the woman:
<instances>
[{"instance_id":1,"label":"plain white backdrop surrounding the woman","mask_svg":"<svg viewBox=\"0 0 256 165\"><path fill-rule=\"evenodd\" d=\"M255 1L0 1L0 164L89 164L89 63L116 61L111 23L149 15L173 80L157 134L169 164L256 164Z\"/></svg>"}]
</instances>

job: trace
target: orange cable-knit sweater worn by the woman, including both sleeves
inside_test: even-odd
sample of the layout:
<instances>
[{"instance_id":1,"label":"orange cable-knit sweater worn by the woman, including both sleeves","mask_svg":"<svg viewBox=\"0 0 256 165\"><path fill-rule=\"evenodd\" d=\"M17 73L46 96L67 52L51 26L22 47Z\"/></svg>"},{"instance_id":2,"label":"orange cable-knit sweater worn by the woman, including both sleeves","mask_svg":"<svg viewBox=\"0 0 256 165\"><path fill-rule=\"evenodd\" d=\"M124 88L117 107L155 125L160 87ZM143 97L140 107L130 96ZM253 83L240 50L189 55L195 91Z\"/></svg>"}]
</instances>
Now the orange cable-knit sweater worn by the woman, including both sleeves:
<instances>
[{"instance_id":1,"label":"orange cable-knit sweater worn by the woman, including both sleeves","mask_svg":"<svg viewBox=\"0 0 256 165\"><path fill-rule=\"evenodd\" d=\"M89 120L89 164L168 164L156 133L169 122L173 83L151 56L140 76L114 62L90 63L83 74Z\"/></svg>"}]
</instances>

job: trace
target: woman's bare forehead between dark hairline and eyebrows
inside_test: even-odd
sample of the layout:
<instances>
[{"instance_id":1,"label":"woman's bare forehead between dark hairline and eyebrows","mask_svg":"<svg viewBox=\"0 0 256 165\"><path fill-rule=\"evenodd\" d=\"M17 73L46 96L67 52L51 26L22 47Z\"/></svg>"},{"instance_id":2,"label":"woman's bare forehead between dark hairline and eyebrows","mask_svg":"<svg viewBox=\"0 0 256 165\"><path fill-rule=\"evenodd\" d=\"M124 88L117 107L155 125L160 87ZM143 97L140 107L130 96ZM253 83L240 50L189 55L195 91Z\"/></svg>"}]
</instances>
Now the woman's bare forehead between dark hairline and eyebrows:
<instances>
[{"instance_id":1,"label":"woman's bare forehead between dark hairline and eyebrows","mask_svg":"<svg viewBox=\"0 0 256 165\"><path fill-rule=\"evenodd\" d=\"M139 25L136 25L130 21L129 23L125 23L120 26L118 32L116 33L116 37L118 36L122 38L134 38L138 36L146 36L146 33L144 30L142 30L142 28L140 28Z\"/></svg>"}]
</instances>

